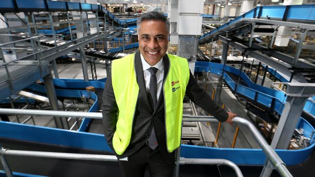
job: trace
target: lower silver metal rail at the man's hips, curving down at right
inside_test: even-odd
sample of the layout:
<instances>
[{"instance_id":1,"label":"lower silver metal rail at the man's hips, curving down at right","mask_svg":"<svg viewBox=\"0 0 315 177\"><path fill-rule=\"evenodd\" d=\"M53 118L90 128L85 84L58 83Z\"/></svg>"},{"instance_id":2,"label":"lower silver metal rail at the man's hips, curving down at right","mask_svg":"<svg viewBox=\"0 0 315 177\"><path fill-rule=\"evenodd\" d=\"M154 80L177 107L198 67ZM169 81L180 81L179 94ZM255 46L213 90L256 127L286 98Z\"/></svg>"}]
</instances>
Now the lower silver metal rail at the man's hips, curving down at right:
<instances>
[{"instance_id":1,"label":"lower silver metal rail at the man's hips, curving down at right","mask_svg":"<svg viewBox=\"0 0 315 177\"><path fill-rule=\"evenodd\" d=\"M12 171L4 158L4 155L24 156L24 157L40 157L40 158L54 158L54 159L72 159L72 160L90 160L90 161L109 161L117 162L118 159L114 155L97 155L97 154L78 154L78 153L63 153L63 152L43 152L43 151L28 151L28 150L11 150L0 147L0 161L3 164L7 177L13 177ZM124 161L121 159L120 161ZM238 166L225 159L186 159L180 158L178 162L184 164L221 164L230 166L236 173L237 177L243 177L242 172Z\"/></svg>"}]
</instances>

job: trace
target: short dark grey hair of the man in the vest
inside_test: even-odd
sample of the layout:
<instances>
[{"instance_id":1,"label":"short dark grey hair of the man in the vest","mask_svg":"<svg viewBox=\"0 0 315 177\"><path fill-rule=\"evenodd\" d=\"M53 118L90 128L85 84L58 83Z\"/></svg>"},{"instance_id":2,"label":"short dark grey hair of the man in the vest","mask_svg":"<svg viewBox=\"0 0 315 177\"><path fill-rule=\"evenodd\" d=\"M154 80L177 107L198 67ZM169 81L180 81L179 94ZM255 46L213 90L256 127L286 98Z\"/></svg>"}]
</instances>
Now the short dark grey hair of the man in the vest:
<instances>
[{"instance_id":1,"label":"short dark grey hair of the man in the vest","mask_svg":"<svg viewBox=\"0 0 315 177\"><path fill-rule=\"evenodd\" d=\"M158 20L158 21L162 21L165 22L165 26L166 26L166 31L169 34L170 33L170 21L166 18L166 16L164 16L163 14L159 13L159 12L147 12L145 14L142 14L138 17L137 19L137 30L139 33L140 30L140 25L143 21L146 20Z\"/></svg>"}]
</instances>

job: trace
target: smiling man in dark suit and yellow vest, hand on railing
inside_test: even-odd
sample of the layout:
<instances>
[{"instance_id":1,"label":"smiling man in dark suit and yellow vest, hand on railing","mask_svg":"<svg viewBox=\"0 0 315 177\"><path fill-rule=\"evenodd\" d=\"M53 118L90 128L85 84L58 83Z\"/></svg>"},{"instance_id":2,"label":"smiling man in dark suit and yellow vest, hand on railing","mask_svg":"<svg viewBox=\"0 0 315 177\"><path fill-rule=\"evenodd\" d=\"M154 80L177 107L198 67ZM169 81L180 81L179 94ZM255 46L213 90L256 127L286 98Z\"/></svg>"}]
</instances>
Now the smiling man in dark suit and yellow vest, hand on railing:
<instances>
[{"instance_id":1,"label":"smiling man in dark suit and yellow vest, hand on railing","mask_svg":"<svg viewBox=\"0 0 315 177\"><path fill-rule=\"evenodd\" d=\"M139 51L113 60L103 93L103 126L124 177L172 177L180 146L183 99L221 122L236 116L214 103L189 71L187 59L166 54L170 22L158 12L137 21Z\"/></svg>"}]
</instances>

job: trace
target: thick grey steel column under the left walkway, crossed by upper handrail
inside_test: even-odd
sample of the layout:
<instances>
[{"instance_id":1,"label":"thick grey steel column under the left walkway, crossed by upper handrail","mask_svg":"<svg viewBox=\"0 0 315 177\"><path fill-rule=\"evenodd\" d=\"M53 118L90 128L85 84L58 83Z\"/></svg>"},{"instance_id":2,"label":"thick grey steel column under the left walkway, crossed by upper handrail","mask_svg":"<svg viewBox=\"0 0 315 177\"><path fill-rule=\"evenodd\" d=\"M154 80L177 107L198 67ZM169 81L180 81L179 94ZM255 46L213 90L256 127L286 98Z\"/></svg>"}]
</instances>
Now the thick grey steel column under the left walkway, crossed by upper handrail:
<instances>
[{"instance_id":1,"label":"thick grey steel column under the left walkway, crossed by upper handrail","mask_svg":"<svg viewBox=\"0 0 315 177\"><path fill-rule=\"evenodd\" d=\"M51 110L58 111L59 110L58 99L57 99L54 83L52 82L51 74L44 77L44 84L45 84L46 93L49 99ZM61 117L54 117L54 121L55 121L56 128L60 128L60 129L65 128L64 125L66 124L63 123L63 119Z\"/></svg>"}]
</instances>

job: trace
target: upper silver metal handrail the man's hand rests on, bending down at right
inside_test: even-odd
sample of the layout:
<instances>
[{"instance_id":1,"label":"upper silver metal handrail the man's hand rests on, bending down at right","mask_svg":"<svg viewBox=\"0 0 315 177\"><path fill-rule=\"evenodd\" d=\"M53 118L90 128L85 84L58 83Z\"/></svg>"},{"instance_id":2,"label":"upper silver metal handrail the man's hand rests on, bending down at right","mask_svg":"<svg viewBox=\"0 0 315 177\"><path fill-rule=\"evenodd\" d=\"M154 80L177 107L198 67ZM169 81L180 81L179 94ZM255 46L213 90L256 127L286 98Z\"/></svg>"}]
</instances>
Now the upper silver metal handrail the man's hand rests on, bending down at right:
<instances>
[{"instance_id":1,"label":"upper silver metal handrail the man's hand rests on, bending down at right","mask_svg":"<svg viewBox=\"0 0 315 177\"><path fill-rule=\"evenodd\" d=\"M78 117L78 118L102 118L102 113L89 113L89 112L74 112L74 111L49 111L49 110L20 110L20 109L5 109L0 108L1 114L9 115L33 115L33 116L59 116L59 117ZM264 137L258 132L256 127L248 120L244 118L235 117L232 119L235 123L240 123L252 132L259 146L266 154L268 160L272 163L274 168L279 172L282 177L293 177L288 169L285 167L285 163L281 160L274 149L268 145ZM213 116L189 116L183 115L184 122L218 122Z\"/></svg>"}]
</instances>

